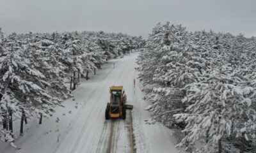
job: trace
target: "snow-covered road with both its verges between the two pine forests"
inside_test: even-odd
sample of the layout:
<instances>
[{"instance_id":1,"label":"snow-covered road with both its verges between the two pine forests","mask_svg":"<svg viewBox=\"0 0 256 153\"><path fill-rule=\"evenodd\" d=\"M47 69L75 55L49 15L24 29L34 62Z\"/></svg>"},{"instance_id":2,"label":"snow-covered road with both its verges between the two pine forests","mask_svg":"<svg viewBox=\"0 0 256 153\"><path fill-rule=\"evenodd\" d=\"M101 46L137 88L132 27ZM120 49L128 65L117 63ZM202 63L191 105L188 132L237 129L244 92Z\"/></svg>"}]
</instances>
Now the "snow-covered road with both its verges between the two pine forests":
<instances>
[{"instance_id":1,"label":"snow-covered road with both its verges between the two pine forests","mask_svg":"<svg viewBox=\"0 0 256 153\"><path fill-rule=\"evenodd\" d=\"M73 93L74 98L63 102L65 108L56 108L56 113L44 119L41 125L36 118L28 120L24 135L15 142L20 150L1 142L0 152L132 152L130 113L136 152L178 152L170 129L144 122L150 117L150 113L144 110L149 104L142 99L141 83L136 80L135 88L133 86L133 79L138 76L134 69L137 55L127 55L104 64L96 75L90 76L90 80L81 82ZM104 118L111 85L123 85L127 103L134 105L132 112L127 111L126 120L106 121ZM14 128L19 135L19 121L15 122Z\"/></svg>"}]
</instances>

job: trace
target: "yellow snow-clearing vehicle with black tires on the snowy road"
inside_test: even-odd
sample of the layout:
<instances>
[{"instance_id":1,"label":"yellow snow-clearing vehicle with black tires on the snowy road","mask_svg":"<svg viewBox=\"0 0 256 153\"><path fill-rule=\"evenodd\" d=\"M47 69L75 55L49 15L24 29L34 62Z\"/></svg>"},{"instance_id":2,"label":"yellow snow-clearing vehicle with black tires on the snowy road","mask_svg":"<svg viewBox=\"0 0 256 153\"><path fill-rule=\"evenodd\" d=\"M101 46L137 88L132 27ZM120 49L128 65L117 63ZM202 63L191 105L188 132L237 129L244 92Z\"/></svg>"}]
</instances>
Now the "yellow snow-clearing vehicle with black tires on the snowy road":
<instances>
[{"instance_id":1,"label":"yellow snow-clearing vehicle with black tires on the snowy road","mask_svg":"<svg viewBox=\"0 0 256 153\"><path fill-rule=\"evenodd\" d=\"M110 90L110 102L107 105L105 117L106 120L109 118L120 118L125 119L126 109L132 110L132 105L127 105L126 95L123 90L123 86L111 86Z\"/></svg>"}]
</instances>

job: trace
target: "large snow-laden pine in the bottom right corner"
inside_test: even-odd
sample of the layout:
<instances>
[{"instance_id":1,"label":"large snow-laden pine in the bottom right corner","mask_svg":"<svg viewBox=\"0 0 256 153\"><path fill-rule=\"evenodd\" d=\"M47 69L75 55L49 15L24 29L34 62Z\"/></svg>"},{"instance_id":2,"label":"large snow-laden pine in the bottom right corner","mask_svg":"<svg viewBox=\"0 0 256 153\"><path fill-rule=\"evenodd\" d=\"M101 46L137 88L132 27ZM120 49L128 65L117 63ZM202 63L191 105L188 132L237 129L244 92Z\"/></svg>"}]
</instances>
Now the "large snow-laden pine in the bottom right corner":
<instances>
[{"instance_id":1,"label":"large snow-laden pine in the bottom right corner","mask_svg":"<svg viewBox=\"0 0 256 153\"><path fill-rule=\"evenodd\" d=\"M240 80L232 77L230 65L212 69L206 80L186 86L183 103L186 113L175 117L186 122L185 138L178 146L191 149L197 141L202 148L196 152L234 152L231 136L253 141L256 111L252 108L252 87L241 87Z\"/></svg>"}]
</instances>

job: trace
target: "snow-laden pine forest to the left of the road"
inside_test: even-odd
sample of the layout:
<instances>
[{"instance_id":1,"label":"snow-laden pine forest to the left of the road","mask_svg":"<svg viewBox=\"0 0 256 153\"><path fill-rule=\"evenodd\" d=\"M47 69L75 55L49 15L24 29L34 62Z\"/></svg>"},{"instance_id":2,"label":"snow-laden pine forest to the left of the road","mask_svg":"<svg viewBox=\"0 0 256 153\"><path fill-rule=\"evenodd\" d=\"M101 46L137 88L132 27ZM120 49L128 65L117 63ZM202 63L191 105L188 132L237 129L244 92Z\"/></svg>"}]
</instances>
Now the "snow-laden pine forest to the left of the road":
<instances>
[{"instance_id":1,"label":"snow-laden pine forest to the left of the road","mask_svg":"<svg viewBox=\"0 0 256 153\"><path fill-rule=\"evenodd\" d=\"M70 98L81 77L108 59L141 48L145 41L122 33L12 33L0 29L0 138L13 142L13 117L23 124L36 113L39 124ZM66 82L70 82L68 89Z\"/></svg>"}]
</instances>

